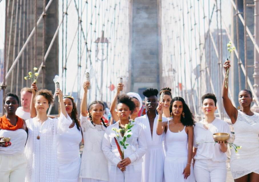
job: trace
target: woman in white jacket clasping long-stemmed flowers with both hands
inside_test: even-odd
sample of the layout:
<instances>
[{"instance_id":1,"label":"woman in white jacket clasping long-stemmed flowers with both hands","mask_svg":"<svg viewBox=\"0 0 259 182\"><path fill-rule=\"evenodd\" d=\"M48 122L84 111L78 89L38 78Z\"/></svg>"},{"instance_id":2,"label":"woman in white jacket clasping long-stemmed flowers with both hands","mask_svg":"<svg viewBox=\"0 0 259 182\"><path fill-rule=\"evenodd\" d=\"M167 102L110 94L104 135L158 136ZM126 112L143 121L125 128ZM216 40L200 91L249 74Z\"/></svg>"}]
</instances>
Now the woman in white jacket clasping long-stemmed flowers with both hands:
<instances>
[{"instance_id":1,"label":"woman in white jacket clasping long-stemmed flowers with both hands","mask_svg":"<svg viewBox=\"0 0 259 182\"><path fill-rule=\"evenodd\" d=\"M142 128L134 124L134 122L131 123L132 121L129 120L129 115L134 111L135 107L134 102L129 96L119 96L117 115L120 120L110 125L105 132L102 149L109 161L109 182L141 182L142 156L145 154L147 146ZM130 128L131 134L128 133L126 136L125 128L127 128L129 122L133 124L133 127ZM117 133L117 131L121 132ZM119 137L118 145L124 150L123 160L121 159L114 137ZM122 140L125 140L127 147L121 145Z\"/></svg>"}]
</instances>

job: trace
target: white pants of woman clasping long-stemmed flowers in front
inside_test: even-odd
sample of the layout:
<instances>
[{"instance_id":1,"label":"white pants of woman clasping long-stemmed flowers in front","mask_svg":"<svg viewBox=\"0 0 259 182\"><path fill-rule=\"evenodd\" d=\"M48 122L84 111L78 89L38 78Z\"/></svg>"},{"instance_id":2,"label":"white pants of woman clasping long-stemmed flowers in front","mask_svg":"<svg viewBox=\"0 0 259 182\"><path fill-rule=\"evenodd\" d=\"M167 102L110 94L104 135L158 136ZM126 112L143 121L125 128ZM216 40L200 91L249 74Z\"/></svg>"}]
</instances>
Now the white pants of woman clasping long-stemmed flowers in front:
<instances>
[{"instance_id":1,"label":"white pants of woman clasping long-stemmed flowers in front","mask_svg":"<svg viewBox=\"0 0 259 182\"><path fill-rule=\"evenodd\" d=\"M142 164L134 164L126 167L126 170L121 172L117 166L109 166L109 182L141 182L142 179ZM155 172L155 171L154 171Z\"/></svg>"}]
</instances>

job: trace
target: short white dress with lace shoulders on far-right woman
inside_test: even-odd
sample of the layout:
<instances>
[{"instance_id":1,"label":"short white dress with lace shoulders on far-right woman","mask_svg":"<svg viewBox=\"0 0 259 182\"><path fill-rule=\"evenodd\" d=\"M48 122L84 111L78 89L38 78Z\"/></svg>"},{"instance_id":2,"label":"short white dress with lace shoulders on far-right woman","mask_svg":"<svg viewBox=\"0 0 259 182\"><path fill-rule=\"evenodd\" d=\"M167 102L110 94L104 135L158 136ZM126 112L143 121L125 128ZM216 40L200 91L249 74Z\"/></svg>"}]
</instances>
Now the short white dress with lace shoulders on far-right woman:
<instances>
[{"instance_id":1,"label":"short white dress with lace shoulders on far-right woman","mask_svg":"<svg viewBox=\"0 0 259 182\"><path fill-rule=\"evenodd\" d=\"M259 174L259 114L248 116L238 111L233 127L234 144L242 146L237 153L234 149L231 150L230 169L233 178L237 179L252 172Z\"/></svg>"}]
</instances>

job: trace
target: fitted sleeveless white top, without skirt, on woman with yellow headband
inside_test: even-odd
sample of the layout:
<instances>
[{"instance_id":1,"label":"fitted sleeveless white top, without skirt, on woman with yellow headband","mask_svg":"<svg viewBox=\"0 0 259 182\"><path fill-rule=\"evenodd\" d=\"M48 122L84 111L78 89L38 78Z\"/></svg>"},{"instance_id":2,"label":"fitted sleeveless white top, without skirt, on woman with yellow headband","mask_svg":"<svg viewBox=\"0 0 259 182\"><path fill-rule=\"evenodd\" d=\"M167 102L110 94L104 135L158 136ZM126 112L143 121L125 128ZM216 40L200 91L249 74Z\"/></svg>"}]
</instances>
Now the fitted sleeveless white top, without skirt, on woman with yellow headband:
<instances>
[{"instance_id":1,"label":"fitted sleeveless white top, without skirt, on woman with yellow headband","mask_svg":"<svg viewBox=\"0 0 259 182\"><path fill-rule=\"evenodd\" d=\"M80 158L79 144L82 141L81 131L77 125L57 136L57 157L60 164L69 164Z\"/></svg>"}]
</instances>

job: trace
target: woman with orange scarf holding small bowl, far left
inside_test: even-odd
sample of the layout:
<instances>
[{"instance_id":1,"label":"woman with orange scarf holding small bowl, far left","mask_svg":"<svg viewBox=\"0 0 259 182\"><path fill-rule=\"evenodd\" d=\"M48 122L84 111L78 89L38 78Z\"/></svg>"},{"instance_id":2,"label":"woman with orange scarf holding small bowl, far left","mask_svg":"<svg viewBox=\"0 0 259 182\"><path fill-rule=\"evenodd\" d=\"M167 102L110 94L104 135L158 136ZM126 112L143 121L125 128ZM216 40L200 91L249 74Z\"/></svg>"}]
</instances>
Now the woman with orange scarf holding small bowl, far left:
<instances>
[{"instance_id":1,"label":"woman with orange scarf holding small bowl, far left","mask_svg":"<svg viewBox=\"0 0 259 182\"><path fill-rule=\"evenodd\" d=\"M26 172L24 147L27 139L27 127L23 119L15 115L19 106L16 94L8 93L3 99L6 114L0 117L0 181L23 182ZM12 142L8 145L8 140ZM9 141L9 142L10 142Z\"/></svg>"}]
</instances>

